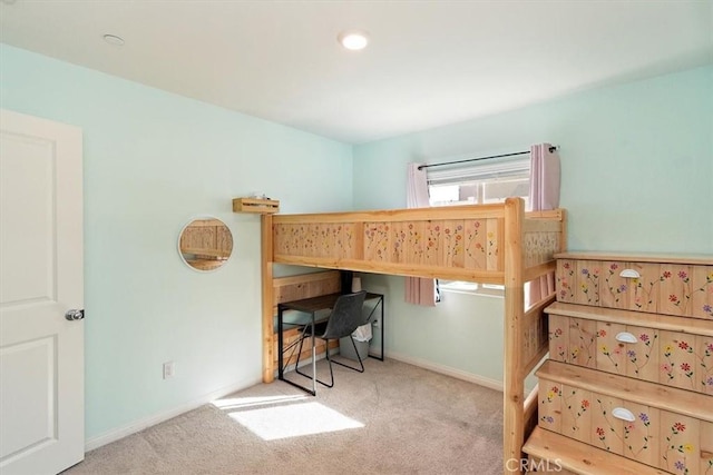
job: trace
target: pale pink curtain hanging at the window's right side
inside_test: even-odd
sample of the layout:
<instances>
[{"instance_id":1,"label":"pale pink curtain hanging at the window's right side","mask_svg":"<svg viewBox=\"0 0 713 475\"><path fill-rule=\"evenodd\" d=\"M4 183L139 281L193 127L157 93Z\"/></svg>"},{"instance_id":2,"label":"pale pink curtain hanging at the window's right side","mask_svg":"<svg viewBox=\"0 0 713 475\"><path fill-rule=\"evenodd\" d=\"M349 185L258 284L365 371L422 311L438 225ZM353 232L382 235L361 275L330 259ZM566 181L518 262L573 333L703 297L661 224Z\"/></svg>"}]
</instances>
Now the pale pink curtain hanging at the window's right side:
<instances>
[{"instance_id":1,"label":"pale pink curtain hanging at the window's right side","mask_svg":"<svg viewBox=\"0 0 713 475\"><path fill-rule=\"evenodd\" d=\"M551 150L551 151L550 151ZM529 210L545 211L559 207L559 155L549 144L530 147ZM555 291L555 276L547 275L528 284L526 306L538 303Z\"/></svg>"}]
</instances>

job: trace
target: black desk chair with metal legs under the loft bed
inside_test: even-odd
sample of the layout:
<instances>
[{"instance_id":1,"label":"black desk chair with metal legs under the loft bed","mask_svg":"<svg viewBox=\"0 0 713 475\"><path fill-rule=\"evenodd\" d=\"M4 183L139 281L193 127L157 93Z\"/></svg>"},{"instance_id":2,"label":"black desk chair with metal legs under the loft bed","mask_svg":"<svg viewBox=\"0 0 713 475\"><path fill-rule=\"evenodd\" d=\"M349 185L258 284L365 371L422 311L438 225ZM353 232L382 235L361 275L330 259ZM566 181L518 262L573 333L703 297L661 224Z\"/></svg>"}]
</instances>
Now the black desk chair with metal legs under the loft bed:
<instances>
[{"instance_id":1,"label":"black desk chair with metal legs under the loft bed","mask_svg":"<svg viewBox=\"0 0 713 475\"><path fill-rule=\"evenodd\" d=\"M326 386L334 386L334 373L332 372L332 363L335 363L340 366L344 366L345 368L353 369L359 373L364 373L364 364L361 360L361 356L359 355L359 350L356 349L356 344L354 343L354 338L352 338L352 333L364 325L362 317L362 307L364 306L364 297L367 296L367 291L358 291L355 294L344 294L340 295L336 301L334 303L334 308L332 308L332 313L326 321L321 321L314 325L314 337L324 340L325 344L325 354L326 360L330 364L330 378L331 383L326 384L315 377L318 383ZM354 353L356 354L356 358L359 359L359 368L346 365L344 363L340 363L338 360L333 360L330 358L329 344L331 339L340 339L349 336L352 345L354 346ZM312 379L312 375L307 375L300 370L300 355L302 354L302 344L305 338L312 337L312 326L307 325L304 327L302 335L300 337L300 349L297 350L297 363L295 365L295 372L301 374L302 376L309 377Z\"/></svg>"}]
</instances>

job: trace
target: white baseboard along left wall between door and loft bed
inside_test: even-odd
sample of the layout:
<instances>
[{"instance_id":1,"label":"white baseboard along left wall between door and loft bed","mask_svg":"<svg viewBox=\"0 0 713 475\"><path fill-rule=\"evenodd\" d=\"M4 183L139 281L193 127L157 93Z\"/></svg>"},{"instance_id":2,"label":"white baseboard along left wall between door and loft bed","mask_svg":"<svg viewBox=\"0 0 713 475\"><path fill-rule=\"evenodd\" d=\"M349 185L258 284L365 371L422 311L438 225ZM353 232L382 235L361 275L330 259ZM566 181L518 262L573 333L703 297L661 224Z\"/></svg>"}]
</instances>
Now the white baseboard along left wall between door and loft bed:
<instances>
[{"instance_id":1,"label":"white baseboard along left wall between door and loft bed","mask_svg":"<svg viewBox=\"0 0 713 475\"><path fill-rule=\"evenodd\" d=\"M205 394L197 399L194 399L187 404L180 405L173 409L166 410L165 413L155 414L153 416L135 420L124 427L118 427L108 433L101 434L99 436L92 437L90 439L85 441L85 452L94 451L95 448L99 448L102 445L110 444L120 438L135 434L139 431L144 431L145 428L155 426L156 424L160 424L164 420L168 420L173 417L179 416L188 410L196 409L204 404L208 404L212 400L218 399L221 397L227 396L228 394L233 394L241 389L245 389L247 387L254 386L256 384L262 383L262 378L257 378L255 380L247 380L243 383L236 383L231 386L223 387L221 389L216 389L212 393Z\"/></svg>"}]
</instances>

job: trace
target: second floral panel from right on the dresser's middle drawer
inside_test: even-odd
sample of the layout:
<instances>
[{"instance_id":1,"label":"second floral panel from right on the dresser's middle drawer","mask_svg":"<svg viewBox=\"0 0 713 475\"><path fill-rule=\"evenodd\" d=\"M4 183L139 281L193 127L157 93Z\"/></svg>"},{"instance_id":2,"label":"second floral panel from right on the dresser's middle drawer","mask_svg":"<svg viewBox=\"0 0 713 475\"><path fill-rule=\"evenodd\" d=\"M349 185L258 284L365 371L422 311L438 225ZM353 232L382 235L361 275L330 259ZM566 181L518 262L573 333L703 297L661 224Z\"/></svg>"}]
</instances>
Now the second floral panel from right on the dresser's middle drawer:
<instances>
[{"instance_id":1,"label":"second floral panel from right on the dresser's middle drawer","mask_svg":"<svg viewBox=\"0 0 713 475\"><path fill-rule=\"evenodd\" d=\"M658 382L667 386L700 390L697 385L696 337L675 331L660 331ZM699 352L700 353L700 352Z\"/></svg>"}]
</instances>

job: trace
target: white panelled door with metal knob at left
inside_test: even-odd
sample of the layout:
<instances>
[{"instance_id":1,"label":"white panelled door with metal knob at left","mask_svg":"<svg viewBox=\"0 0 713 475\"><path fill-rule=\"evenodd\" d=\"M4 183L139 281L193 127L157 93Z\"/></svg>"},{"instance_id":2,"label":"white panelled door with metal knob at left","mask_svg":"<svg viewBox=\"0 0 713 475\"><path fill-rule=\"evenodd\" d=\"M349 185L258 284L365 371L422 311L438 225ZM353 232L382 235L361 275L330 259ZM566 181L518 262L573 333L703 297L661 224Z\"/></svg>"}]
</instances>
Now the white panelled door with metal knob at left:
<instances>
[{"instance_id":1,"label":"white panelled door with metal knob at left","mask_svg":"<svg viewBox=\"0 0 713 475\"><path fill-rule=\"evenodd\" d=\"M81 130L0 111L0 473L84 459Z\"/></svg>"}]
</instances>

